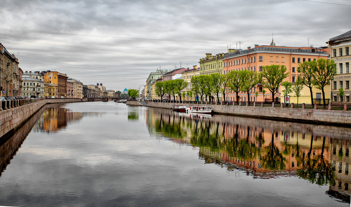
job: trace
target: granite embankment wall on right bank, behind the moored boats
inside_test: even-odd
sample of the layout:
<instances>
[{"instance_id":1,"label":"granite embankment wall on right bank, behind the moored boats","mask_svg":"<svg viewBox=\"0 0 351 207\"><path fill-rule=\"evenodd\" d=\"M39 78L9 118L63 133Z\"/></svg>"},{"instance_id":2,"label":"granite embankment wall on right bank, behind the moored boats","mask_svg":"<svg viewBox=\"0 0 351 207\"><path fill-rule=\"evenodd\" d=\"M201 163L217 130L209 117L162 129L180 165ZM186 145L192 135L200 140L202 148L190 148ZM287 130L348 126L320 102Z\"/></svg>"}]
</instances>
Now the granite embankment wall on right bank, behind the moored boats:
<instances>
[{"instance_id":1,"label":"granite embankment wall on right bank, behind the moored boats","mask_svg":"<svg viewBox=\"0 0 351 207\"><path fill-rule=\"evenodd\" d=\"M147 104L145 104L147 103ZM156 108L171 109L172 105L184 106L210 106L214 113L256 117L273 120L295 121L302 123L318 123L351 126L351 111L326 110L326 109L301 109L301 108L280 108L263 106L237 106L237 105L210 105L210 104L174 104L160 102L139 102L128 101L127 105L148 106Z\"/></svg>"}]
</instances>

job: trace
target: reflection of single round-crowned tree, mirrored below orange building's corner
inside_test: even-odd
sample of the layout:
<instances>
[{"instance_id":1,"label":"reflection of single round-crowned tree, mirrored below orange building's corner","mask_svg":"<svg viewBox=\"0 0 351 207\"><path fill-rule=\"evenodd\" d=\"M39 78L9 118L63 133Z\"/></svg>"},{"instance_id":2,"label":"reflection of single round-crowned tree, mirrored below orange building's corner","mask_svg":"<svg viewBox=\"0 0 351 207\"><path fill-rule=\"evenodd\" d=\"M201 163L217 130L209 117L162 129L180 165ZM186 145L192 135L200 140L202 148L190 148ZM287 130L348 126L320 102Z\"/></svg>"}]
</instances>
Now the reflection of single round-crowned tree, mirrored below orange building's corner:
<instances>
[{"instance_id":1,"label":"reflection of single round-crowned tree, mirrored below orange building's corner","mask_svg":"<svg viewBox=\"0 0 351 207\"><path fill-rule=\"evenodd\" d=\"M272 131L272 141L264 147L266 154L260 158L261 166L270 170L284 170L286 158L280 153L278 147L274 145L274 131Z\"/></svg>"}]
</instances>

